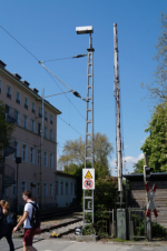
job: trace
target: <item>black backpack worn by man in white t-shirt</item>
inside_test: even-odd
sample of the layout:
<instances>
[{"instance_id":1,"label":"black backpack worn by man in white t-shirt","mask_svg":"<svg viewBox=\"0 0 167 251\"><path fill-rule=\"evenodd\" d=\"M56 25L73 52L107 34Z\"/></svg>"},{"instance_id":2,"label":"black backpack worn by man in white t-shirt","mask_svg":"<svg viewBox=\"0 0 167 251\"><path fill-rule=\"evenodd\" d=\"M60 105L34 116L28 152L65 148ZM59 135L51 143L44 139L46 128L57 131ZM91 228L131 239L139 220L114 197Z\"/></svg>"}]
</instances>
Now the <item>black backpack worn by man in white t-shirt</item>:
<instances>
[{"instance_id":1,"label":"black backpack worn by man in white t-shirt","mask_svg":"<svg viewBox=\"0 0 167 251\"><path fill-rule=\"evenodd\" d=\"M39 214L39 207L37 205L36 202L29 202L30 204L32 204L32 215L31 219L29 218L30 221L30 225L32 227L32 229L38 229L40 228L40 214Z\"/></svg>"}]
</instances>

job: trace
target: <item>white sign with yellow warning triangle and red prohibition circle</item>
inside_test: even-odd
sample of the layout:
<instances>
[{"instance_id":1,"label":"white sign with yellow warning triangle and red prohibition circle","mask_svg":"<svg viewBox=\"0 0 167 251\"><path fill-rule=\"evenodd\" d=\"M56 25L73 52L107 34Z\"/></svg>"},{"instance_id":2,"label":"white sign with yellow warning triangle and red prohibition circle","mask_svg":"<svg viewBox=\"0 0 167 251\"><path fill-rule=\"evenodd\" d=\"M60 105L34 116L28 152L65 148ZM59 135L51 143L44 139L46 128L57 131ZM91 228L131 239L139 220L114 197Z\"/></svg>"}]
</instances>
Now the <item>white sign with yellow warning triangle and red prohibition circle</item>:
<instances>
[{"instance_id":1,"label":"white sign with yellow warning triangle and red prohibition circle","mask_svg":"<svg viewBox=\"0 0 167 251\"><path fill-rule=\"evenodd\" d=\"M95 169L82 169L82 189L95 189Z\"/></svg>"}]
</instances>

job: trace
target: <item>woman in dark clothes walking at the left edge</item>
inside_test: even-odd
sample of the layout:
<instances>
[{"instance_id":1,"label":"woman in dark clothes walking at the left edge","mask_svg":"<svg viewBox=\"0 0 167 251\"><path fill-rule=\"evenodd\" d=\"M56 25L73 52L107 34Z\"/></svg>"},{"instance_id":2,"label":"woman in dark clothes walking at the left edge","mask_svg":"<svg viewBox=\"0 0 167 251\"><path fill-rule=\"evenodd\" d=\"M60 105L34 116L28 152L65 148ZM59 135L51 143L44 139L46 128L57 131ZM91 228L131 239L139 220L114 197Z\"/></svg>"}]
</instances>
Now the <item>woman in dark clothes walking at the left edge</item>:
<instances>
[{"instance_id":1,"label":"woman in dark clothes walking at the left edge","mask_svg":"<svg viewBox=\"0 0 167 251\"><path fill-rule=\"evenodd\" d=\"M8 222L8 218L10 218L10 207L9 207L9 203L4 200L1 200L0 201L0 207L2 208L2 213L3 213L3 222L7 222L7 224L2 224L2 228L7 228L7 231L4 231L4 235L8 243L9 243L9 247L10 247L10 251L14 251L14 247L13 247L13 241L12 241L12 230L13 230L13 225L11 225L9 222Z\"/></svg>"}]
</instances>

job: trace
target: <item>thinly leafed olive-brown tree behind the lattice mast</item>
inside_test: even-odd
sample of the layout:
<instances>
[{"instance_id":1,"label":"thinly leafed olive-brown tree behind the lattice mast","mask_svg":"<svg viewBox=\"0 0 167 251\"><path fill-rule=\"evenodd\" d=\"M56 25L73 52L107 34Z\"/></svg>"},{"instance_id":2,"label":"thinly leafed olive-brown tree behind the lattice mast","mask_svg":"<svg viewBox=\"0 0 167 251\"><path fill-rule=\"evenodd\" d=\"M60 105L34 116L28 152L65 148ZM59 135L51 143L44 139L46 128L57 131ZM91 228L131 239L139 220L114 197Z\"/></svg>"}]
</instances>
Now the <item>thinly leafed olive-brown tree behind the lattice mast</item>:
<instances>
[{"instance_id":1,"label":"thinly leafed olive-brown tree behind the lattice mast","mask_svg":"<svg viewBox=\"0 0 167 251\"><path fill-rule=\"evenodd\" d=\"M111 157L114 148L109 142L106 134L97 132L95 134L94 141L94 152L95 152L95 169L98 170L101 175L109 174L109 163L108 158ZM88 155L91 155L91 150L89 150ZM68 173L71 170L75 171L75 164L80 165L85 162L85 141L79 138L76 140L68 140L65 143L62 155L60 157L58 163L63 164L65 171ZM67 167L68 165L68 167Z\"/></svg>"}]
</instances>

